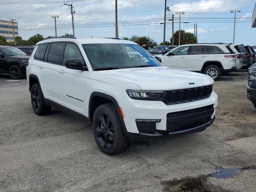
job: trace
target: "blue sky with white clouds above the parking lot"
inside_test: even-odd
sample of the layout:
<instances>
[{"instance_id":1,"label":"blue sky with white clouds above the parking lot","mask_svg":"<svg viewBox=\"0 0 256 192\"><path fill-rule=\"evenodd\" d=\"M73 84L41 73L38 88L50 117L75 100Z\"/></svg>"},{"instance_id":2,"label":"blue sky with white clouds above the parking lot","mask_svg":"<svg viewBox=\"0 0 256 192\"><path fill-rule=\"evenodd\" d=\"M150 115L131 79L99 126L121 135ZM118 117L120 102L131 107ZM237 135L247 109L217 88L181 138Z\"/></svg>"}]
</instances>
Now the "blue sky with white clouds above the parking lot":
<instances>
[{"instance_id":1,"label":"blue sky with white clouds above the parking lot","mask_svg":"<svg viewBox=\"0 0 256 192\"><path fill-rule=\"evenodd\" d=\"M40 33L54 36L54 19L57 18L58 36L72 34L71 14L60 0L0 0L0 20L18 21L19 35L23 39ZM115 0L74 0L76 37L114 37ZM251 28L251 17L256 0L167 0L166 39L170 39L174 14L174 30L178 30L176 11L184 11L181 28L194 33L198 26L199 42L226 42L233 39L234 13L237 14L236 44L256 44L256 28ZM164 0L118 0L119 37L150 36L160 43L163 40ZM184 23L189 22L189 23Z\"/></svg>"}]
</instances>

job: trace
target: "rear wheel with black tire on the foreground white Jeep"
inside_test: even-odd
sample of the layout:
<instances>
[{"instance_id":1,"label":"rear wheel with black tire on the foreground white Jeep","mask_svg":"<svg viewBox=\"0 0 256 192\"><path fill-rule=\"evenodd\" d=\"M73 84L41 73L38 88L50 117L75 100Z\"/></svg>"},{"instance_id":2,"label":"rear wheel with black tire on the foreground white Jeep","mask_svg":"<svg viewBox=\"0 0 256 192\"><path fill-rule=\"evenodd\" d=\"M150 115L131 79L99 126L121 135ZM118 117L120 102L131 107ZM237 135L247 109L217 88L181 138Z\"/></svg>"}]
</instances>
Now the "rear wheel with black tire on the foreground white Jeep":
<instances>
[{"instance_id":1,"label":"rear wheel with black tire on the foreground white Jeep","mask_svg":"<svg viewBox=\"0 0 256 192\"><path fill-rule=\"evenodd\" d=\"M38 83L31 88L31 104L37 115L46 115L51 112L52 107L44 104L42 90Z\"/></svg>"}]
</instances>

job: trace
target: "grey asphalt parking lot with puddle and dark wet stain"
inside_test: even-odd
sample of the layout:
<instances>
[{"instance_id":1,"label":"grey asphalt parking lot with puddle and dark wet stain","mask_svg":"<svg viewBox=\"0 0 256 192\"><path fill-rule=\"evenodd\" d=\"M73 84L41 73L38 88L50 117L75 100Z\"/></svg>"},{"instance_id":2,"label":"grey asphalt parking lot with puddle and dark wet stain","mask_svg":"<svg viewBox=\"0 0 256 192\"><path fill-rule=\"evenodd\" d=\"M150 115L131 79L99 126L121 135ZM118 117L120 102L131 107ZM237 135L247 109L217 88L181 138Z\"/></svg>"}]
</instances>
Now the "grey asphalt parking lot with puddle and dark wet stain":
<instances>
[{"instance_id":1,"label":"grey asphalt parking lot with puddle and dark wet stain","mask_svg":"<svg viewBox=\"0 0 256 192\"><path fill-rule=\"evenodd\" d=\"M26 78L0 75L0 191L255 192L256 109L247 70L214 83L218 108L204 132L103 154L90 123L32 110ZM214 174L217 173L217 174Z\"/></svg>"}]
</instances>

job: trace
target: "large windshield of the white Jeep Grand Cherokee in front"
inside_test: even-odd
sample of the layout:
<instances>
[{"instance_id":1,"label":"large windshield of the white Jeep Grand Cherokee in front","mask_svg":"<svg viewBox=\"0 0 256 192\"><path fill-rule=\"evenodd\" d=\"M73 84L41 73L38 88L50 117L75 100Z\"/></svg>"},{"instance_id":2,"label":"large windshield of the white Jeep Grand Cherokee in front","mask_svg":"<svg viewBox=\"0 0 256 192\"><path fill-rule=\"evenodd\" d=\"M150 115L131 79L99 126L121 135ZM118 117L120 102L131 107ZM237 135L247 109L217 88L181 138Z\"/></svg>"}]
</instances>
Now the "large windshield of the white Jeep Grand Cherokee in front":
<instances>
[{"instance_id":1,"label":"large windshield of the white Jeep Grand Cherokee in front","mask_svg":"<svg viewBox=\"0 0 256 192\"><path fill-rule=\"evenodd\" d=\"M150 53L137 44L82 44L93 70L161 66Z\"/></svg>"}]
</instances>

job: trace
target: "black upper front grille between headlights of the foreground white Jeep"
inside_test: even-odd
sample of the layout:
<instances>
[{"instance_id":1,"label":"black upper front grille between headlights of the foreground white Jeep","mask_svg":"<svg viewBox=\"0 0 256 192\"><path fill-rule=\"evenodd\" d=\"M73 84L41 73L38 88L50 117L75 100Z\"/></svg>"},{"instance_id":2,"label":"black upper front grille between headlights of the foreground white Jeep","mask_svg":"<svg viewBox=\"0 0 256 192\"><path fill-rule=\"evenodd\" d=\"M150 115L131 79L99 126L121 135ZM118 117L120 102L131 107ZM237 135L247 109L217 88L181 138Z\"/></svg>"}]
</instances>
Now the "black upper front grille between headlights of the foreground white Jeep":
<instances>
[{"instance_id":1,"label":"black upper front grille between headlights of the foreground white Jeep","mask_svg":"<svg viewBox=\"0 0 256 192\"><path fill-rule=\"evenodd\" d=\"M213 85L165 91L165 103L177 104L210 97Z\"/></svg>"}]
</instances>

